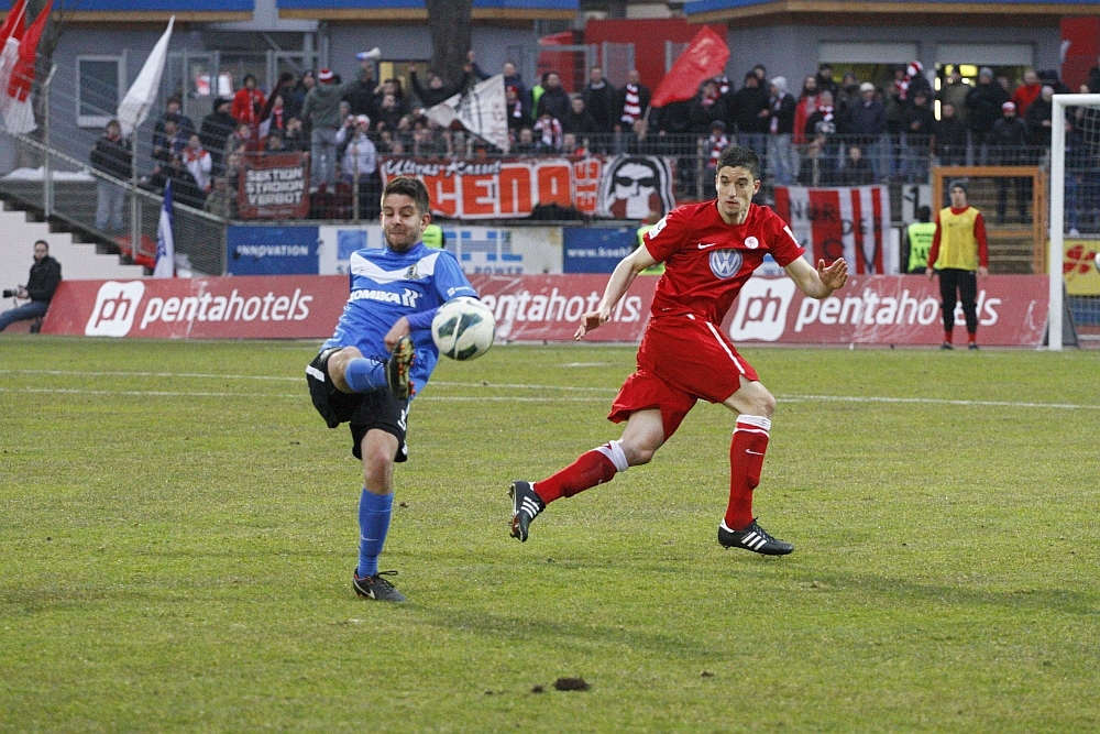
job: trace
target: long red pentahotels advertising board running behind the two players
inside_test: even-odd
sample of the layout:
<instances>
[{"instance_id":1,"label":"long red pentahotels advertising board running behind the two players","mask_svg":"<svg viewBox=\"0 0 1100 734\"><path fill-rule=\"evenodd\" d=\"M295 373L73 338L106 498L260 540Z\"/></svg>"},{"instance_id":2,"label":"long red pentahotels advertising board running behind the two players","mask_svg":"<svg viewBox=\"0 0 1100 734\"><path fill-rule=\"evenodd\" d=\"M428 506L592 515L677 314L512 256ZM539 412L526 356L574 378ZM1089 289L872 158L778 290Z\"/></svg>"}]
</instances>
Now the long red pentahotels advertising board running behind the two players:
<instances>
[{"instance_id":1,"label":"long red pentahotels advertising board running behind the two players","mask_svg":"<svg viewBox=\"0 0 1100 734\"><path fill-rule=\"evenodd\" d=\"M503 341L571 341L596 307L607 275L472 275ZM638 276L586 341L637 342L658 276ZM64 281L43 333L175 339L324 339L348 300L342 275ZM978 282L978 340L1036 347L1046 328L1047 278L994 275ZM956 307L956 341L965 340ZM785 277L754 277L723 329L735 343L938 344L939 291L917 275L855 275L823 300Z\"/></svg>"}]
</instances>

